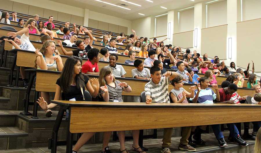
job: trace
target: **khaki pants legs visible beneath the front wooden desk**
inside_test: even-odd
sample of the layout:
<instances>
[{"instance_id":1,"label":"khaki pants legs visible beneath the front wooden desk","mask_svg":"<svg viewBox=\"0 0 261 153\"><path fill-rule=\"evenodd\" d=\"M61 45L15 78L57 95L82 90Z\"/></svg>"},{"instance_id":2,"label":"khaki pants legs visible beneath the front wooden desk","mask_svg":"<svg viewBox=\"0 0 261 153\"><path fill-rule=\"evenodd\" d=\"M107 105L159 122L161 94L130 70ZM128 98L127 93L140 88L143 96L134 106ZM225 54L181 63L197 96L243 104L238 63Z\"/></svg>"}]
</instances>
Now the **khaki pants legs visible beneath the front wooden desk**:
<instances>
[{"instance_id":1,"label":"khaki pants legs visible beneath the front wooden desk","mask_svg":"<svg viewBox=\"0 0 261 153\"><path fill-rule=\"evenodd\" d=\"M173 128L165 128L163 132L163 139L162 139L162 147L170 147L171 146L171 135L172 135ZM182 127L181 130L181 139L180 143L182 145L187 145L189 143L189 136L191 132L191 126Z\"/></svg>"}]
</instances>

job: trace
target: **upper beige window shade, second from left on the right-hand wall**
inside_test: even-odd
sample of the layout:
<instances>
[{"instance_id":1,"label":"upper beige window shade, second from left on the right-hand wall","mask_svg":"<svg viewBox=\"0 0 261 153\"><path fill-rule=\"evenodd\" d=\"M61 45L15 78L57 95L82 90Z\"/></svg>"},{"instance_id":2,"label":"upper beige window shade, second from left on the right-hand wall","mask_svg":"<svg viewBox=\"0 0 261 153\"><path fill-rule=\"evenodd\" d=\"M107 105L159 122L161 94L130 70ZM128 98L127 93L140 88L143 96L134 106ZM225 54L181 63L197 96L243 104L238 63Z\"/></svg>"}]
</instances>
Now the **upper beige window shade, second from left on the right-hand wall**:
<instances>
[{"instance_id":1,"label":"upper beige window shade, second from left on the right-hand wall","mask_svg":"<svg viewBox=\"0 0 261 153\"><path fill-rule=\"evenodd\" d=\"M180 12L179 32L194 30L194 9Z\"/></svg>"}]
</instances>

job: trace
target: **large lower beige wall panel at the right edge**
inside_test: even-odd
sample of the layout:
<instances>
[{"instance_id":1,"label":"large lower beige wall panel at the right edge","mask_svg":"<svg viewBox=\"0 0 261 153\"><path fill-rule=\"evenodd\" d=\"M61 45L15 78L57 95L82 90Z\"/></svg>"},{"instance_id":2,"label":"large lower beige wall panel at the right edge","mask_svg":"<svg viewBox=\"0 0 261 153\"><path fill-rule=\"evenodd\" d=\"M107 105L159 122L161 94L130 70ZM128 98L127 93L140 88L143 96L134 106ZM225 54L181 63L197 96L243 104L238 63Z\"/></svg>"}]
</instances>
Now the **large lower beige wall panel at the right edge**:
<instances>
[{"instance_id":1,"label":"large lower beige wall panel at the right edge","mask_svg":"<svg viewBox=\"0 0 261 153\"><path fill-rule=\"evenodd\" d=\"M261 72L260 40L261 19L243 21L237 23L237 66L246 68L253 60L255 72ZM251 64L252 65L252 64ZM252 67L250 67L251 69ZM252 69L251 69L252 70Z\"/></svg>"}]
</instances>

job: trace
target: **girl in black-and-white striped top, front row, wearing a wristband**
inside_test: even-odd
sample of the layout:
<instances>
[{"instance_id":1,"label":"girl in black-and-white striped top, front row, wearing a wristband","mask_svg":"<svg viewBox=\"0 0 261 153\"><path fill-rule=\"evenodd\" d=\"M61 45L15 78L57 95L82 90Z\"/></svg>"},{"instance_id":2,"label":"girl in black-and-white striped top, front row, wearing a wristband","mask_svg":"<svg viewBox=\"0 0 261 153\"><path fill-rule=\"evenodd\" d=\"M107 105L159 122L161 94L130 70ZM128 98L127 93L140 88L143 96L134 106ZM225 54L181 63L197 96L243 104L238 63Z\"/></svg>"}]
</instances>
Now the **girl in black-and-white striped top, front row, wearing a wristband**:
<instances>
[{"instance_id":1,"label":"girl in black-and-white striped top, front row, wearing a wristband","mask_svg":"<svg viewBox=\"0 0 261 153\"><path fill-rule=\"evenodd\" d=\"M123 102L122 90L131 92L131 87L127 83L115 80L112 70L109 67L104 67L100 70L99 85L101 86L98 94L100 101ZM139 153L146 153L139 147L139 130L133 130L132 135L133 145L131 146L131 150ZM118 136L120 142L119 151L121 153L128 153L128 150L125 147L125 131L118 131ZM109 140L104 141L109 143Z\"/></svg>"}]
</instances>

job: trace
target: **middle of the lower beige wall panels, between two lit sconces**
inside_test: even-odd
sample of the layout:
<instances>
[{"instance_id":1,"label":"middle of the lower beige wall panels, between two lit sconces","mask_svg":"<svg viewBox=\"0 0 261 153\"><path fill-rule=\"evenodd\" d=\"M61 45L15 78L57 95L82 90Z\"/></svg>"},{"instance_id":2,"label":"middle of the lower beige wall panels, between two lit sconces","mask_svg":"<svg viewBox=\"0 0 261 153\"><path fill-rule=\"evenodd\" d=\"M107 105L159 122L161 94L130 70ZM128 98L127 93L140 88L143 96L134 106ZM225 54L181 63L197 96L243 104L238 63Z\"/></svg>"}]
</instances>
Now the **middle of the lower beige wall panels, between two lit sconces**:
<instances>
[{"instance_id":1,"label":"middle of the lower beige wall panels, between two lit sconces","mask_svg":"<svg viewBox=\"0 0 261 153\"><path fill-rule=\"evenodd\" d=\"M208 57L226 59L227 25L220 25L201 30L201 52Z\"/></svg>"}]
</instances>

